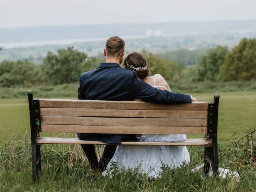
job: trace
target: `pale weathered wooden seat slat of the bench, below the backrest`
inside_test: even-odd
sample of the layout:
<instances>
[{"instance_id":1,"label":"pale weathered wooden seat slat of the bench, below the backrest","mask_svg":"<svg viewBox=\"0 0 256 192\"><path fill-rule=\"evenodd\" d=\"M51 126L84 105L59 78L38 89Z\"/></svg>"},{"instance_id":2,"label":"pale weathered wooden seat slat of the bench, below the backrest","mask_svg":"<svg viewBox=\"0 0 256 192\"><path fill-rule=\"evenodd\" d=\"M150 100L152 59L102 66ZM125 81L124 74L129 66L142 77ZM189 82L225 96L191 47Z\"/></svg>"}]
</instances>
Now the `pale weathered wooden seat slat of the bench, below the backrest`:
<instances>
[{"instance_id":1,"label":"pale weathered wooden seat slat of the bench, below the backrest","mask_svg":"<svg viewBox=\"0 0 256 192\"><path fill-rule=\"evenodd\" d=\"M42 137L36 140L37 144L96 144L108 145L99 141L84 141L78 138ZM186 139L183 142L122 142L120 145L174 145L174 146L212 146L212 141L205 139Z\"/></svg>"}]
</instances>

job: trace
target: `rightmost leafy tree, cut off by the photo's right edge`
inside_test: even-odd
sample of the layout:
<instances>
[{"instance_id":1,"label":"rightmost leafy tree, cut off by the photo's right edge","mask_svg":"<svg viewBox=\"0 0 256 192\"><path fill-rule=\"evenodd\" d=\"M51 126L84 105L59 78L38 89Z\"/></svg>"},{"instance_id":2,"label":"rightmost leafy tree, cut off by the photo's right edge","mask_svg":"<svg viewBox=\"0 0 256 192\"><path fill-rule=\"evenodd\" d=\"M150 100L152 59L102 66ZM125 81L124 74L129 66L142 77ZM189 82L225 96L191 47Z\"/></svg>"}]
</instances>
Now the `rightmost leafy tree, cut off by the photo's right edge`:
<instances>
[{"instance_id":1,"label":"rightmost leafy tree, cut off by the photo's right edge","mask_svg":"<svg viewBox=\"0 0 256 192\"><path fill-rule=\"evenodd\" d=\"M219 81L256 80L256 39L243 38L226 55L220 66Z\"/></svg>"}]
</instances>

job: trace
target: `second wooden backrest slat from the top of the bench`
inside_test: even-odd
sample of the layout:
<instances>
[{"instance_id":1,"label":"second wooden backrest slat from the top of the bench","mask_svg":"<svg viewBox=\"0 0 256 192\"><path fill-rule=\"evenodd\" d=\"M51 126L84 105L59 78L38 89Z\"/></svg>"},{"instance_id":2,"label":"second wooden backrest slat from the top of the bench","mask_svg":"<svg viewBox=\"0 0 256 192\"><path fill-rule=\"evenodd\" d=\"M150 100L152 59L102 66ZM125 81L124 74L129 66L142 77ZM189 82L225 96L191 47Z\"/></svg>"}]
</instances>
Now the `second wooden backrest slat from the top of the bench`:
<instances>
[{"instance_id":1,"label":"second wooden backrest slat from the top of the bench","mask_svg":"<svg viewBox=\"0 0 256 192\"><path fill-rule=\"evenodd\" d=\"M41 116L101 116L101 117L144 117L144 118L207 118L206 110L124 110L41 108Z\"/></svg>"}]
</instances>

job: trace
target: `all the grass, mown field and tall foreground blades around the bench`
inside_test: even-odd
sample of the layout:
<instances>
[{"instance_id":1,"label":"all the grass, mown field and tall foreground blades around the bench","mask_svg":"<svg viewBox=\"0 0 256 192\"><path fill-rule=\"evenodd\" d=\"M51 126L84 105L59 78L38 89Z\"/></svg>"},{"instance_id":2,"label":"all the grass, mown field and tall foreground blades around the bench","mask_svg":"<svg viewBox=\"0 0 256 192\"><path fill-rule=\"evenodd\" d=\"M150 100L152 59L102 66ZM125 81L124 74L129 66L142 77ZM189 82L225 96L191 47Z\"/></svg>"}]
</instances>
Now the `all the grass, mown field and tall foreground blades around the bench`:
<instances>
[{"instance_id":1,"label":"all the grass, mown field and tall foreground blades around the bench","mask_svg":"<svg viewBox=\"0 0 256 192\"><path fill-rule=\"evenodd\" d=\"M36 96L36 95L35 95ZM212 101L214 93L193 94L199 101ZM218 120L219 154L239 138L246 128L255 128L256 92L220 92ZM228 151L219 166L237 171L234 178L202 177L191 169L203 163L203 147L188 147L190 164L178 169L163 167L160 178L151 179L134 170L115 170L109 176L91 178L78 145L41 146L42 172L32 182L28 102L26 99L0 100L0 191L92 191L92 192L255 192L256 132ZM25 136L25 137L24 137ZM190 136L193 137L193 136ZM97 146L97 153L102 146Z\"/></svg>"}]
</instances>

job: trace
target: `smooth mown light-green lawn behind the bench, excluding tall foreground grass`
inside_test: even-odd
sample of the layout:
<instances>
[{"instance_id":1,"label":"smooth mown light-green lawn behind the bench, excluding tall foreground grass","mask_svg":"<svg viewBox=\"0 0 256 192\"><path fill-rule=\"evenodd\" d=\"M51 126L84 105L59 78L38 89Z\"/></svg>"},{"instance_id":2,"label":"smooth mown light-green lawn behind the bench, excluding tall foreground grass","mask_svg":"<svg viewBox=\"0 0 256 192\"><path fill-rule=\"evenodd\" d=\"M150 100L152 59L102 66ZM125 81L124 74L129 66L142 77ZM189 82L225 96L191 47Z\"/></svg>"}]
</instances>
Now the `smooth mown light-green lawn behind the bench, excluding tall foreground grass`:
<instances>
[{"instance_id":1,"label":"smooth mown light-green lawn behind the bench, excluding tall foreground grass","mask_svg":"<svg viewBox=\"0 0 256 192\"><path fill-rule=\"evenodd\" d=\"M36 95L35 95L36 96ZM212 101L214 93L193 94L198 101ZM256 92L220 93L218 141L231 140L256 124ZM0 141L12 140L16 134L30 133L27 99L0 99Z\"/></svg>"}]
</instances>

